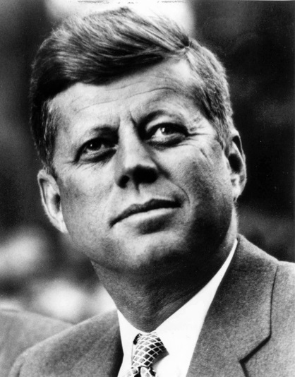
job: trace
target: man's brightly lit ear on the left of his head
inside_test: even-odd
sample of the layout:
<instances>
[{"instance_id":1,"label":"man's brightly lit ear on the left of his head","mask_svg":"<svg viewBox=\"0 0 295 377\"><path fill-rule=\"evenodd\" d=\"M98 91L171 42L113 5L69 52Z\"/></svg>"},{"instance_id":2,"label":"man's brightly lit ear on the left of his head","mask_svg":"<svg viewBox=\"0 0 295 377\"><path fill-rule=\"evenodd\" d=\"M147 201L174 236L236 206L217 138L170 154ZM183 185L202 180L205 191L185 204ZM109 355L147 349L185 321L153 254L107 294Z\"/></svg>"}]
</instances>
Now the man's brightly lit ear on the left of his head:
<instances>
[{"instance_id":1,"label":"man's brightly lit ear on the left of his head","mask_svg":"<svg viewBox=\"0 0 295 377\"><path fill-rule=\"evenodd\" d=\"M61 209L61 196L56 179L44 169L40 170L37 178L42 204L49 220L56 229L59 229L63 233L68 233Z\"/></svg>"}]
</instances>

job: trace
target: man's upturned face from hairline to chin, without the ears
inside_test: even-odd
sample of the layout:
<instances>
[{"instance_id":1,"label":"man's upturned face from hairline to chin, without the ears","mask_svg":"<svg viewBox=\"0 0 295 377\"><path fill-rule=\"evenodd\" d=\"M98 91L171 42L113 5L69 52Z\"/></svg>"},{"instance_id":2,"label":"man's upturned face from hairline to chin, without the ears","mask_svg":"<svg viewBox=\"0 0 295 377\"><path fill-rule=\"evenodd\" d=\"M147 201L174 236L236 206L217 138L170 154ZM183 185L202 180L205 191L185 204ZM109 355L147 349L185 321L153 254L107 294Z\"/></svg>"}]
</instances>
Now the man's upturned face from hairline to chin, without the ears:
<instances>
[{"instance_id":1,"label":"man's upturned face from hairline to chin, without the ears","mask_svg":"<svg viewBox=\"0 0 295 377\"><path fill-rule=\"evenodd\" d=\"M231 168L191 81L167 61L54 98L59 218L104 268L205 263L227 234Z\"/></svg>"}]
</instances>

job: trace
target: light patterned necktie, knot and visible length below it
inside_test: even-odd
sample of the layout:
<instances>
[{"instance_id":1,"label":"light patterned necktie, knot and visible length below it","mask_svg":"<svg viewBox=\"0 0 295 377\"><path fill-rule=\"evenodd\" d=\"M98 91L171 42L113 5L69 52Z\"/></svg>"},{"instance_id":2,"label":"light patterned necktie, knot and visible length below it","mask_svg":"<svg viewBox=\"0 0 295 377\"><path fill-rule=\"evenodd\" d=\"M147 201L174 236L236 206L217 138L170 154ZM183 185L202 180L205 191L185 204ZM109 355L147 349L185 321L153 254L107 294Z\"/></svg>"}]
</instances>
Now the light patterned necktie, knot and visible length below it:
<instances>
[{"instance_id":1,"label":"light patterned necktie, knot and visible length below it","mask_svg":"<svg viewBox=\"0 0 295 377\"><path fill-rule=\"evenodd\" d=\"M165 351L162 340L159 339L155 332L138 335L136 340L131 369L127 371L124 377L157 377L152 369L152 364Z\"/></svg>"}]
</instances>

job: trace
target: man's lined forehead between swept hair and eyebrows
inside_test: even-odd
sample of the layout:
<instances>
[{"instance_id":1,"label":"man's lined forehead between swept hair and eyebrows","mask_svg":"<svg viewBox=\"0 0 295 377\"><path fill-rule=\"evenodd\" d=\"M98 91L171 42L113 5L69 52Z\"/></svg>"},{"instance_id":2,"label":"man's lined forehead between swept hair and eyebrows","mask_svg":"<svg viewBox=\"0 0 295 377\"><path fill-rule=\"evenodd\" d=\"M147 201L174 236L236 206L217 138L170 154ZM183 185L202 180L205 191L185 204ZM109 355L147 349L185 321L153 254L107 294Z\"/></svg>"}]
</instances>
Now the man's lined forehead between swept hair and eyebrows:
<instances>
[{"instance_id":1,"label":"man's lined forehead between swept hair and eyebrows","mask_svg":"<svg viewBox=\"0 0 295 377\"><path fill-rule=\"evenodd\" d=\"M52 109L68 124L94 112L105 117L127 108L136 112L165 102L169 106L172 99L181 107L186 100L195 100L192 79L186 61L165 61L104 85L76 83L54 97Z\"/></svg>"}]
</instances>

